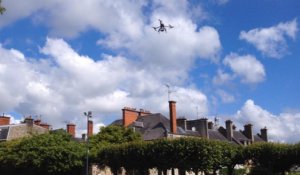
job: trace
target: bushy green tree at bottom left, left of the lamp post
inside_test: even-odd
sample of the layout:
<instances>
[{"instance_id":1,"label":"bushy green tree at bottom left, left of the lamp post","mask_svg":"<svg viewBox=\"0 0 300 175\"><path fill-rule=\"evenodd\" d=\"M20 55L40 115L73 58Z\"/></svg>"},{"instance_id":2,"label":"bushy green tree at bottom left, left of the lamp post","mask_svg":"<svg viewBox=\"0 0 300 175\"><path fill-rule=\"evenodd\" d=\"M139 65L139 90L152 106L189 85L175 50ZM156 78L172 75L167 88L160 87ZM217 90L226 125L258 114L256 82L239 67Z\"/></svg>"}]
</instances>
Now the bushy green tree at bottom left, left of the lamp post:
<instances>
[{"instance_id":1,"label":"bushy green tree at bottom left, left of the lamp post","mask_svg":"<svg viewBox=\"0 0 300 175\"><path fill-rule=\"evenodd\" d=\"M1 169L5 174L79 174L84 147L64 131L2 143Z\"/></svg>"}]
</instances>

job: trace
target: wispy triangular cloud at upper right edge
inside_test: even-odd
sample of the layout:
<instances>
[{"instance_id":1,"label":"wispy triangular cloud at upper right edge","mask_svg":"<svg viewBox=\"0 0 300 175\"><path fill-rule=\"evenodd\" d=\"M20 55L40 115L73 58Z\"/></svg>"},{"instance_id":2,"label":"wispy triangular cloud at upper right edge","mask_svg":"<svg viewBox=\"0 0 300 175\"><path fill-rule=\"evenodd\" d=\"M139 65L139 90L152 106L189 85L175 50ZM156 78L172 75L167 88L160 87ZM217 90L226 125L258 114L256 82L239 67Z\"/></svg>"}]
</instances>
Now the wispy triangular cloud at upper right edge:
<instances>
[{"instance_id":1,"label":"wispy triangular cloud at upper right edge","mask_svg":"<svg viewBox=\"0 0 300 175\"><path fill-rule=\"evenodd\" d=\"M294 19L269 28L241 31L240 39L254 45L268 57L281 58L288 54L287 39L296 39L297 31L297 20Z\"/></svg>"}]
</instances>

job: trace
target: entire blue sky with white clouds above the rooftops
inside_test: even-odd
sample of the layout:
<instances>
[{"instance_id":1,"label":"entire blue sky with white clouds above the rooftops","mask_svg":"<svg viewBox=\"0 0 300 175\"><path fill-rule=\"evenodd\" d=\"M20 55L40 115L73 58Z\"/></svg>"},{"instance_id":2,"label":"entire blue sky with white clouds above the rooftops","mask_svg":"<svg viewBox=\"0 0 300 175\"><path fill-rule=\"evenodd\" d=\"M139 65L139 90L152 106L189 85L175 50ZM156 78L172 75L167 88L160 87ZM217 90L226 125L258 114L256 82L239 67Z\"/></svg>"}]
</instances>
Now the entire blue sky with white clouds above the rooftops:
<instances>
[{"instance_id":1,"label":"entire blue sky with white clouds above the rooftops","mask_svg":"<svg viewBox=\"0 0 300 175\"><path fill-rule=\"evenodd\" d=\"M54 129L123 107L300 141L298 0L3 0L0 112ZM158 33L161 19L173 29Z\"/></svg>"}]
</instances>

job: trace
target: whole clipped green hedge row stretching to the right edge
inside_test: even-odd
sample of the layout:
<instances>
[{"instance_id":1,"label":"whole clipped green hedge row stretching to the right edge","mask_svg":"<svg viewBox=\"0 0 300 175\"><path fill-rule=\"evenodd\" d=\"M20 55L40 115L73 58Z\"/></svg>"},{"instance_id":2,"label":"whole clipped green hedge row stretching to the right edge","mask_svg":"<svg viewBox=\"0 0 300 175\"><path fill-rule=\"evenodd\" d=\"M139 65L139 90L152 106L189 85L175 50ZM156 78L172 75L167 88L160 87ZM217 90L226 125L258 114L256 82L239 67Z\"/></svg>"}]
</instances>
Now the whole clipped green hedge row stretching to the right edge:
<instances>
[{"instance_id":1,"label":"whole clipped green hedge row stretching to the right edge","mask_svg":"<svg viewBox=\"0 0 300 175\"><path fill-rule=\"evenodd\" d=\"M247 147L228 142L199 138L162 139L151 142L133 142L106 147L98 152L96 163L114 171L146 171L157 168L164 171L216 172L226 167L234 174L236 164L248 162L252 174L282 174L300 163L300 144L258 143Z\"/></svg>"}]
</instances>

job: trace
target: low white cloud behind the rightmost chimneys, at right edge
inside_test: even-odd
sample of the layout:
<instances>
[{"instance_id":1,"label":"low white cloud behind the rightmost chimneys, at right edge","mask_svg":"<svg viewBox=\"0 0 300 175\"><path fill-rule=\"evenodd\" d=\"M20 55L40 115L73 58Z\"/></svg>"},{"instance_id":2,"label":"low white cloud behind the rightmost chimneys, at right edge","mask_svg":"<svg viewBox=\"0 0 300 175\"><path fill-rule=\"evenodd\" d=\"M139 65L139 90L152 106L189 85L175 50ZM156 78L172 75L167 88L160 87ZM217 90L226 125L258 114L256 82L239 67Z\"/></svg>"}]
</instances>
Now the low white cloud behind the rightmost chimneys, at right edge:
<instances>
[{"instance_id":1,"label":"low white cloud behind the rightmost chimneys, at right edge","mask_svg":"<svg viewBox=\"0 0 300 175\"><path fill-rule=\"evenodd\" d=\"M267 127L268 137L271 141L288 143L300 141L300 113L281 113L275 115L249 99L237 111L235 118L240 126L246 123L253 124L255 133L259 133L259 129Z\"/></svg>"}]
</instances>

